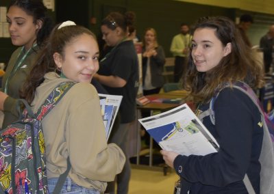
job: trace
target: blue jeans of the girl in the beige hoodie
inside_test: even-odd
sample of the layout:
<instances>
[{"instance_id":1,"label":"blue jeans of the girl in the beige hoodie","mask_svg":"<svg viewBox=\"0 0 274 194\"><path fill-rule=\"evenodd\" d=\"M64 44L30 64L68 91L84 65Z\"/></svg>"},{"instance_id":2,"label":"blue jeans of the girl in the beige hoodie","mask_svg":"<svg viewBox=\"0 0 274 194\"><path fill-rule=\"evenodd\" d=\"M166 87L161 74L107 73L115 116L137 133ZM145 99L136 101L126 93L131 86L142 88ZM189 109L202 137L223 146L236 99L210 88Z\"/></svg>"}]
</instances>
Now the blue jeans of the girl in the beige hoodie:
<instances>
[{"instance_id":1,"label":"blue jeans of the girl in the beige hoodie","mask_svg":"<svg viewBox=\"0 0 274 194\"><path fill-rule=\"evenodd\" d=\"M58 182L58 178L49 178L47 180L48 186L49 186L49 193L53 193L55 185ZM100 192L97 189L86 189L83 186L77 185L71 178L66 178L66 181L64 182L64 185L62 186L61 193L71 193L71 194L100 194Z\"/></svg>"}]
</instances>

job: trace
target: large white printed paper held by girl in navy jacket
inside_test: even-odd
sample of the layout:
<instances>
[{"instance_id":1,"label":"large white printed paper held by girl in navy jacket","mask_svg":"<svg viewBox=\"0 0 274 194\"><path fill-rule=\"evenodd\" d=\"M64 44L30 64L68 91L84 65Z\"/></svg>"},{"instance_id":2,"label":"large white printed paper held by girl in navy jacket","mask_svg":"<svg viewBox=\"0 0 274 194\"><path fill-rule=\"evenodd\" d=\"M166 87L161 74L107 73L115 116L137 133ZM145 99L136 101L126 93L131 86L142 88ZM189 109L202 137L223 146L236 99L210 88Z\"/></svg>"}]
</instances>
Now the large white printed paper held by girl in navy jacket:
<instances>
[{"instance_id":1,"label":"large white printed paper held by girl in navy jacket","mask_svg":"<svg viewBox=\"0 0 274 194\"><path fill-rule=\"evenodd\" d=\"M163 150L204 156L219 148L216 139L186 104L139 122Z\"/></svg>"}]
</instances>

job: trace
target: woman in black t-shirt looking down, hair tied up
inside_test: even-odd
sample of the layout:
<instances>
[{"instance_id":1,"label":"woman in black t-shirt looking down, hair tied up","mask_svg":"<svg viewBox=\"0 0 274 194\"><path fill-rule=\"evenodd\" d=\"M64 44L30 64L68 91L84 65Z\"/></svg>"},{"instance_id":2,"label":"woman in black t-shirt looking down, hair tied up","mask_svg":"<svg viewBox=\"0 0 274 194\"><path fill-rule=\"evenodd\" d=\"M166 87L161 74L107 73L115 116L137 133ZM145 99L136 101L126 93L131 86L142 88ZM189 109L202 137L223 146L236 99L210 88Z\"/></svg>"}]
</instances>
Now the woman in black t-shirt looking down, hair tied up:
<instances>
[{"instance_id":1,"label":"woman in black t-shirt looking down, hair tied up","mask_svg":"<svg viewBox=\"0 0 274 194\"><path fill-rule=\"evenodd\" d=\"M95 79L109 94L123 96L119 109L121 123L113 128L109 142L116 143L126 153L129 128L136 118L136 95L138 91L138 58L134 43L128 38L128 26L134 21L127 15L111 12L101 23L103 40L112 50L100 60ZM117 193L128 193L130 179L129 158L121 174L116 178ZM114 182L108 183L106 193L114 193Z\"/></svg>"}]
</instances>

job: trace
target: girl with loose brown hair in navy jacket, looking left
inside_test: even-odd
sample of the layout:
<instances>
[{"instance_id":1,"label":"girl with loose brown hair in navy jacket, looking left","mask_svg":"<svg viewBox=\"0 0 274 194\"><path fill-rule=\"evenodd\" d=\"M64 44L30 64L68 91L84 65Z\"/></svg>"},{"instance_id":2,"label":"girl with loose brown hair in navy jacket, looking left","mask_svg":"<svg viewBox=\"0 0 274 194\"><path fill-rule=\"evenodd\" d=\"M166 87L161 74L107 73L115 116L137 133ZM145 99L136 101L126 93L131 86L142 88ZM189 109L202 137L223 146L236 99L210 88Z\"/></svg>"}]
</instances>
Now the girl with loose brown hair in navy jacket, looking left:
<instances>
[{"instance_id":1,"label":"girl with loose brown hair in navy jacket, looking left","mask_svg":"<svg viewBox=\"0 0 274 194\"><path fill-rule=\"evenodd\" d=\"M245 82L262 87L262 68L251 55L234 22L225 17L200 18L193 29L184 89L198 102L197 113L214 100L215 124L203 124L219 143L219 151L205 156L184 156L161 150L164 161L181 177L181 193L247 193L247 174L260 193L260 152L263 128L260 111L239 89L225 87Z\"/></svg>"}]
</instances>

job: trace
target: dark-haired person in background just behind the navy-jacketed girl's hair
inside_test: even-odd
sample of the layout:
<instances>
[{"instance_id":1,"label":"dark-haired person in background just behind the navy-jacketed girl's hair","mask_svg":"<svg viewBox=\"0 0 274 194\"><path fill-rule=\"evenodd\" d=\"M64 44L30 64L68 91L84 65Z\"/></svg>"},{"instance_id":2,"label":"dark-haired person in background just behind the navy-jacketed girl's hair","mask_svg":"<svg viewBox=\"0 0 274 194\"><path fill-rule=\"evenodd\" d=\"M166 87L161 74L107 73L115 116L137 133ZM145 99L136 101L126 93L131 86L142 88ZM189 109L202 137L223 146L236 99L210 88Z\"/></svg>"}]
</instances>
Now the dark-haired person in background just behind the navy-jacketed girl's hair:
<instances>
[{"instance_id":1,"label":"dark-haired person in background just behind the navy-jacketed girl's hair","mask_svg":"<svg viewBox=\"0 0 274 194\"><path fill-rule=\"evenodd\" d=\"M247 46L251 47L251 42L247 36L247 31L253 23L253 18L249 14L242 14L240 16L240 23L238 24L238 29L240 31L240 35L242 36L242 40L244 40Z\"/></svg>"}]
</instances>

